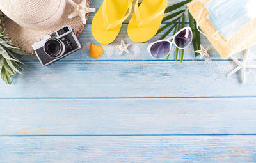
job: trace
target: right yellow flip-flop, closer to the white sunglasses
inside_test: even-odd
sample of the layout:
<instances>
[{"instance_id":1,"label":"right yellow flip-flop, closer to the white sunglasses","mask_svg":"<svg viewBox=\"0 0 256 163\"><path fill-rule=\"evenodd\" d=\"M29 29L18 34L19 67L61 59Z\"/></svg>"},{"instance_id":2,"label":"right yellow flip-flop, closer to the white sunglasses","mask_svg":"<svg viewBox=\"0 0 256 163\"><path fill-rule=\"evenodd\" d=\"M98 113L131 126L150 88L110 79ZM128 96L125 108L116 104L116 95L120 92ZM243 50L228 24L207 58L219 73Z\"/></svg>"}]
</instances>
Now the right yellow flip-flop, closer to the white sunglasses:
<instances>
[{"instance_id":1,"label":"right yellow flip-flop, closer to the white sunglasses","mask_svg":"<svg viewBox=\"0 0 256 163\"><path fill-rule=\"evenodd\" d=\"M159 29L168 0L143 0L138 7L136 0L134 15L128 24L128 36L134 42L147 42Z\"/></svg>"}]
</instances>

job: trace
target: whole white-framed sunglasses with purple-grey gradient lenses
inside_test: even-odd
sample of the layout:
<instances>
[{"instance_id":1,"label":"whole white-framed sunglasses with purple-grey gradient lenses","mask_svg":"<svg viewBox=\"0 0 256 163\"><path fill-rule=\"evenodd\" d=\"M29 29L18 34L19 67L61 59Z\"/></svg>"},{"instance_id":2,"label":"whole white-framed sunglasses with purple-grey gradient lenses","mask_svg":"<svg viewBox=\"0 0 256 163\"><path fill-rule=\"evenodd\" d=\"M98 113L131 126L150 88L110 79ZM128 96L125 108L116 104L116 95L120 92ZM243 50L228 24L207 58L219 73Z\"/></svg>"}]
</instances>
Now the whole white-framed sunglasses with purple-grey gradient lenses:
<instances>
[{"instance_id":1,"label":"whole white-framed sunglasses with purple-grey gradient lenses","mask_svg":"<svg viewBox=\"0 0 256 163\"><path fill-rule=\"evenodd\" d=\"M148 45L147 50L154 59L163 59L170 54L172 44L179 49L185 49L190 45L193 39L191 27L184 27L180 29L174 36L168 39L158 40ZM171 40L171 41L170 41Z\"/></svg>"}]
</instances>

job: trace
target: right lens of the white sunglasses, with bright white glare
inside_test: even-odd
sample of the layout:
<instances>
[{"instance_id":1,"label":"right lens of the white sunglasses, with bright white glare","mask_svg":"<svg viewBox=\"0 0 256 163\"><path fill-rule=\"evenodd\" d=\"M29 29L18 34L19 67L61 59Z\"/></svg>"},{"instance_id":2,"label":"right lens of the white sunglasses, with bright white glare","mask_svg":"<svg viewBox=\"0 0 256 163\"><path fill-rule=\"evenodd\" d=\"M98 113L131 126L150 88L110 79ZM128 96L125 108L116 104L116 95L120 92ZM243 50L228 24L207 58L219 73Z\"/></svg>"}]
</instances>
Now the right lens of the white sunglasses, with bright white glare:
<instances>
[{"instance_id":1,"label":"right lens of the white sunglasses, with bright white glare","mask_svg":"<svg viewBox=\"0 0 256 163\"><path fill-rule=\"evenodd\" d=\"M189 29L184 29L183 31L180 31L178 35L175 37L175 44L179 48L188 47L188 45L192 41L192 33Z\"/></svg>"}]
</instances>

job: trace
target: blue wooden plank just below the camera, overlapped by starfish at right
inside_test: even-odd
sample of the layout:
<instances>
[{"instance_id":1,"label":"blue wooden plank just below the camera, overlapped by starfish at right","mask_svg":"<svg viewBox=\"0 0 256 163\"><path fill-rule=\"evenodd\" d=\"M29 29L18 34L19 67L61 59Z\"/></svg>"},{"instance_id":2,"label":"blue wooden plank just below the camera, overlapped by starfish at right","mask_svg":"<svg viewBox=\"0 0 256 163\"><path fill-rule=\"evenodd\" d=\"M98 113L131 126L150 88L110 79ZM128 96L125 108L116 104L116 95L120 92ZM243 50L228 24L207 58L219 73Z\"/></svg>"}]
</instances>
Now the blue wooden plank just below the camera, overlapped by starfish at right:
<instances>
[{"instance_id":1,"label":"blue wooden plank just below the camera, overlapped by starfish at right","mask_svg":"<svg viewBox=\"0 0 256 163\"><path fill-rule=\"evenodd\" d=\"M231 63L231 64L230 64ZM248 82L240 74L227 78L237 65L200 62L58 62L48 67L28 63L13 84L0 85L0 98L41 97L219 97L255 96L255 70Z\"/></svg>"}]
</instances>

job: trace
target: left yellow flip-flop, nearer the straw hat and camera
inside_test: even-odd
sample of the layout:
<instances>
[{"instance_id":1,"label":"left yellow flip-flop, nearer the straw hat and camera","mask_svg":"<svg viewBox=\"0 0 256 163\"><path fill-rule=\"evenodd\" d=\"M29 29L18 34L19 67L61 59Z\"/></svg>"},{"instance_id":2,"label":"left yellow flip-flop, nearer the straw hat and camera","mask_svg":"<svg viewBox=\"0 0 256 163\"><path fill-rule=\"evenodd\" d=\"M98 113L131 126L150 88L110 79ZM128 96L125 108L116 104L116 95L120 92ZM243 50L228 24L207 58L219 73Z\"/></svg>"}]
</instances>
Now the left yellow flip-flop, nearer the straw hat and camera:
<instances>
[{"instance_id":1,"label":"left yellow flip-flop, nearer the straw hat and camera","mask_svg":"<svg viewBox=\"0 0 256 163\"><path fill-rule=\"evenodd\" d=\"M108 45L118 35L122 22L132 10L133 0L104 0L92 20L92 35L97 42ZM128 10L128 13L127 13ZM125 13L127 13L125 15Z\"/></svg>"}]
</instances>

